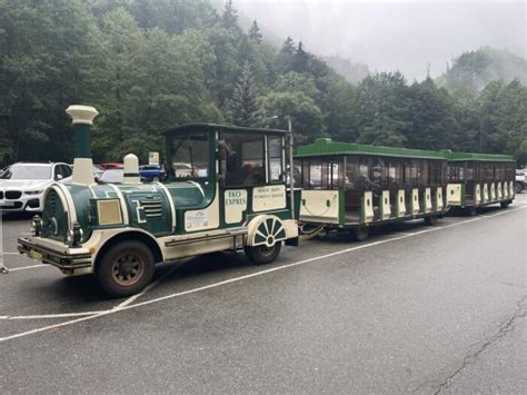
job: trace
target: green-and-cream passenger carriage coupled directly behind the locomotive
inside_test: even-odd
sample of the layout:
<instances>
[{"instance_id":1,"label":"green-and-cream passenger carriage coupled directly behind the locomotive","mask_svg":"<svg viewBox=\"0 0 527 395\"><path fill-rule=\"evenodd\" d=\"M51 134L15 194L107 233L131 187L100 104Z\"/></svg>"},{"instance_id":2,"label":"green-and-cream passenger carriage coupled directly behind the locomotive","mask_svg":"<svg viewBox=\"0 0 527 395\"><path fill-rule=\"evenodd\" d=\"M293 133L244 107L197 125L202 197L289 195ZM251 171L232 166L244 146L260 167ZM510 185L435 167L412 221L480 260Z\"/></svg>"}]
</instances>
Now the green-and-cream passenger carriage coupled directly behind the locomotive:
<instances>
[{"instance_id":1,"label":"green-and-cream passenger carriage coupled directly behind the locomotive","mask_svg":"<svg viewBox=\"0 0 527 395\"><path fill-rule=\"evenodd\" d=\"M445 213L443 152L335 142L319 138L296 152L302 224L348 229L365 239L371 226Z\"/></svg>"}]
</instances>

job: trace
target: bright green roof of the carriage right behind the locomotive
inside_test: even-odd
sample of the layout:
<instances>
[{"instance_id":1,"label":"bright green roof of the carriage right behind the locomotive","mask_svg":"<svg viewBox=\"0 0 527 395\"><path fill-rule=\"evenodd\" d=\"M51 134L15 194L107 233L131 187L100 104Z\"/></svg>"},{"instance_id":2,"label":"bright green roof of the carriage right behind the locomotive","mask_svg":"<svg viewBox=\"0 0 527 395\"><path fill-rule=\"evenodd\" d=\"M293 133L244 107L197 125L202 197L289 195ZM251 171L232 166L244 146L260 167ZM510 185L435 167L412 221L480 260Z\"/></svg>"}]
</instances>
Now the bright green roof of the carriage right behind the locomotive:
<instances>
[{"instance_id":1,"label":"bright green roof of the carriage right behind the locomotive","mask_svg":"<svg viewBox=\"0 0 527 395\"><path fill-rule=\"evenodd\" d=\"M318 138L314 144L298 147L297 158L328 155L376 155L400 158L446 159L443 151L408 149L382 146L367 146L355 142L335 142L330 138Z\"/></svg>"}]
</instances>

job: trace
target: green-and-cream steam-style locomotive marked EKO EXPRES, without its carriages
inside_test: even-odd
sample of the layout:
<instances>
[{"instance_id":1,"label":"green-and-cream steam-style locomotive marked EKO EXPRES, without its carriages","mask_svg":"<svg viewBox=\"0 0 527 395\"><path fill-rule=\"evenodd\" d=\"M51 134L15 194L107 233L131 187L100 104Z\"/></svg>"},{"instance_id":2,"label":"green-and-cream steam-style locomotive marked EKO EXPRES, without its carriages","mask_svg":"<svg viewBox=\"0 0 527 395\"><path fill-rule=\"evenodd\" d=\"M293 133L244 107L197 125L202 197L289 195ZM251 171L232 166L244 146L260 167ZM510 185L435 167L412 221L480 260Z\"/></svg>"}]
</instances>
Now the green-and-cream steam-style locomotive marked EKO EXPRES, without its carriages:
<instances>
[{"instance_id":1,"label":"green-and-cream steam-style locomotive marked EKO EXPRES, without its carriages","mask_svg":"<svg viewBox=\"0 0 527 395\"><path fill-rule=\"evenodd\" d=\"M96 184L89 146L92 107L71 106L76 134L72 182L44 197L32 236L19 251L69 276L96 274L105 292L131 295L155 263L243 249L256 264L296 245L298 227L286 169L287 130L196 124L166 134L167 184L141 184L138 159L125 157L125 182ZM289 186L290 187L290 186ZM220 264L220 263L219 263Z\"/></svg>"}]
</instances>

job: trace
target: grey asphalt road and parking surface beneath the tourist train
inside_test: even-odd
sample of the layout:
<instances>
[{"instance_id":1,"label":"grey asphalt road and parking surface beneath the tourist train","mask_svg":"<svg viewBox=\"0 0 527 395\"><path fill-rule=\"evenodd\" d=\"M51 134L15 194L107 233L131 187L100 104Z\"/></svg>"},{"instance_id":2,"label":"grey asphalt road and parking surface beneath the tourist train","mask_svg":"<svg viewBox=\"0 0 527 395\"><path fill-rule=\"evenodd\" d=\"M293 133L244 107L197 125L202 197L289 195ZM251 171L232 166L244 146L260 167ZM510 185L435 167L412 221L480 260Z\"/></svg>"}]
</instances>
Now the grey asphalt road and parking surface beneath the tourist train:
<instances>
[{"instance_id":1,"label":"grey asphalt road and parking surface beneath the tourist train","mask_svg":"<svg viewBox=\"0 0 527 395\"><path fill-rule=\"evenodd\" d=\"M213 254L120 300L7 255L0 392L525 393L526 218L520 196L266 267ZM4 221L7 251L27 223Z\"/></svg>"}]
</instances>

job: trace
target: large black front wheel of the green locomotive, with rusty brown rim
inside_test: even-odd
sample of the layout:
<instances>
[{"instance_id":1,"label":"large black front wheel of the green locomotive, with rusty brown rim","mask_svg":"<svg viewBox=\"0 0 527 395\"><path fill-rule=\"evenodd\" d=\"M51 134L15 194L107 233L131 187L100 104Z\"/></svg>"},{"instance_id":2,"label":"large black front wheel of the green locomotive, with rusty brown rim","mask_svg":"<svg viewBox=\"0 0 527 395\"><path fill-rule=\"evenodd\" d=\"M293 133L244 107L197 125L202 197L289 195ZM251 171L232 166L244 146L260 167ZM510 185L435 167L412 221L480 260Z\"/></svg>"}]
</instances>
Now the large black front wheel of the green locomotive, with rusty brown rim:
<instances>
[{"instance_id":1,"label":"large black front wheel of the green locomotive, with rusty brown rim","mask_svg":"<svg viewBox=\"0 0 527 395\"><path fill-rule=\"evenodd\" d=\"M110 297L125 297L139 293L152 279L152 251L142 243L120 241L101 257L97 279Z\"/></svg>"}]
</instances>

